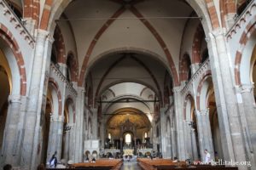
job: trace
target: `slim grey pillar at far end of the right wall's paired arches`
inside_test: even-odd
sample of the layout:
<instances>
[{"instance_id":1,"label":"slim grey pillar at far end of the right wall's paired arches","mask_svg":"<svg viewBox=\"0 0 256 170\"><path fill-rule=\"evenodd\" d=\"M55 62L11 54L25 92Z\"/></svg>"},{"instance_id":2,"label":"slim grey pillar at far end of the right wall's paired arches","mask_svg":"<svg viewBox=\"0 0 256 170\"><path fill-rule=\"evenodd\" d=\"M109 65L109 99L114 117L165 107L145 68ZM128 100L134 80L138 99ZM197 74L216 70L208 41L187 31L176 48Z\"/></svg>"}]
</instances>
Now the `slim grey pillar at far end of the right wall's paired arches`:
<instances>
[{"instance_id":1,"label":"slim grey pillar at far end of the right wall's paired arches","mask_svg":"<svg viewBox=\"0 0 256 170\"><path fill-rule=\"evenodd\" d=\"M182 114L182 97L181 87L174 87L174 111L175 111L175 122L177 129L177 158L179 160L185 160L185 144L184 144L184 133L183 133L183 116Z\"/></svg>"}]
</instances>

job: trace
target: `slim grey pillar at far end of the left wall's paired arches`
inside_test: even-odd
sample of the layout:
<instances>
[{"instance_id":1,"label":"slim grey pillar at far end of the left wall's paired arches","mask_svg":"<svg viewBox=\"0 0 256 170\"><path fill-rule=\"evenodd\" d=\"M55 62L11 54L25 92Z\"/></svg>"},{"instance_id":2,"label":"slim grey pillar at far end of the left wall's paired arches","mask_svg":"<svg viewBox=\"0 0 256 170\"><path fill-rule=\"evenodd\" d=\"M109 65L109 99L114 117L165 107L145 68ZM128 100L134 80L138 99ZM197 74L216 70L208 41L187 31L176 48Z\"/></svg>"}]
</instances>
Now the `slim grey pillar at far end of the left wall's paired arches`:
<instances>
[{"instance_id":1,"label":"slim grey pillar at far end of the left wall's paired arches","mask_svg":"<svg viewBox=\"0 0 256 170\"><path fill-rule=\"evenodd\" d=\"M83 161L83 152L84 152L84 139L83 131L84 129L84 88L78 88L78 96L76 102L76 123L74 130L75 138L75 150L74 150L74 162Z\"/></svg>"}]
</instances>

